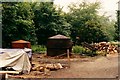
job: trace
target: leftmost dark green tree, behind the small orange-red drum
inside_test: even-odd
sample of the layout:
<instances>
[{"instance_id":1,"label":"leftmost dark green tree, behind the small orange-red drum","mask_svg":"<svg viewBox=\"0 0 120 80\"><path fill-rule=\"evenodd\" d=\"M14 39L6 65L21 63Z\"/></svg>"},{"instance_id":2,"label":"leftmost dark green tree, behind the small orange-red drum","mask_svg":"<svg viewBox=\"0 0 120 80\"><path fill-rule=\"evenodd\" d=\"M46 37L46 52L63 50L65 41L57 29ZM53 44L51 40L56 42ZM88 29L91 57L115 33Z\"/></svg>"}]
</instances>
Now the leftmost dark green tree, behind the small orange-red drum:
<instances>
[{"instance_id":1,"label":"leftmost dark green tree, behind the small orange-red drum","mask_svg":"<svg viewBox=\"0 0 120 80\"><path fill-rule=\"evenodd\" d=\"M10 47L13 40L36 41L35 27L29 3L2 3L3 47Z\"/></svg>"}]
</instances>

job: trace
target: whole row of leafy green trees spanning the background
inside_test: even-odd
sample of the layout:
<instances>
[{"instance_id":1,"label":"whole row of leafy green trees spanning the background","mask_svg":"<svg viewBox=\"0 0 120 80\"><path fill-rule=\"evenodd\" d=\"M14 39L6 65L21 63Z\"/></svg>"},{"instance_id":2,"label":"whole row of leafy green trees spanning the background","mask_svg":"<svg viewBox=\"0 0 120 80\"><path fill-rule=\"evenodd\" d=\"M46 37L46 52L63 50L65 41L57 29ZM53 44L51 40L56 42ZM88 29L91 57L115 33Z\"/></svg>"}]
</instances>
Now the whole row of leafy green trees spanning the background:
<instances>
[{"instance_id":1,"label":"whole row of leafy green trees spanning the background","mask_svg":"<svg viewBox=\"0 0 120 80\"><path fill-rule=\"evenodd\" d=\"M56 34L70 36L75 44L119 37L115 21L98 15L99 2L73 4L68 13L56 9L53 2L3 2L2 7L3 47L10 47L11 41L19 39L45 45L48 37Z\"/></svg>"}]
</instances>

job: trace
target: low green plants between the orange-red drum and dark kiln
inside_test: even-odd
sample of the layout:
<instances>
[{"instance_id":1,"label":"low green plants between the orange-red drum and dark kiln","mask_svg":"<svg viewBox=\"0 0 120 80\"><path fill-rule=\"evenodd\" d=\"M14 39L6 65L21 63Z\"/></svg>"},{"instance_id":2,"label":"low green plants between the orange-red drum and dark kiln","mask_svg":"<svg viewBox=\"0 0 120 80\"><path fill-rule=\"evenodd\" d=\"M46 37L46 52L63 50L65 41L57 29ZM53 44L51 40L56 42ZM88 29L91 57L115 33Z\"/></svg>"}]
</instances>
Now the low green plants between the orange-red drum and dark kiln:
<instances>
[{"instance_id":1,"label":"low green plants between the orange-red drum and dark kiln","mask_svg":"<svg viewBox=\"0 0 120 80\"><path fill-rule=\"evenodd\" d=\"M46 53L47 48L44 45L32 45L32 51L34 53Z\"/></svg>"}]
</instances>

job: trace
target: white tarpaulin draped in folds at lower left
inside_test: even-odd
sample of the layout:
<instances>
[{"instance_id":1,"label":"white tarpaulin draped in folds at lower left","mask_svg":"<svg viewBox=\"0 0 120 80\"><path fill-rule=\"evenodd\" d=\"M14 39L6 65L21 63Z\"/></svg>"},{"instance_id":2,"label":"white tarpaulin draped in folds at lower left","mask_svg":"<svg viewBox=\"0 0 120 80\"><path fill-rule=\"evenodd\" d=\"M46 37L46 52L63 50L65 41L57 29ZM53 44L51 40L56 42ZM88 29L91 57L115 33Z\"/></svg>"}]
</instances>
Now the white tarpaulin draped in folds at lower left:
<instances>
[{"instance_id":1,"label":"white tarpaulin draped in folds at lower left","mask_svg":"<svg viewBox=\"0 0 120 80\"><path fill-rule=\"evenodd\" d=\"M30 72L31 64L24 49L0 49L0 67Z\"/></svg>"}]
</instances>

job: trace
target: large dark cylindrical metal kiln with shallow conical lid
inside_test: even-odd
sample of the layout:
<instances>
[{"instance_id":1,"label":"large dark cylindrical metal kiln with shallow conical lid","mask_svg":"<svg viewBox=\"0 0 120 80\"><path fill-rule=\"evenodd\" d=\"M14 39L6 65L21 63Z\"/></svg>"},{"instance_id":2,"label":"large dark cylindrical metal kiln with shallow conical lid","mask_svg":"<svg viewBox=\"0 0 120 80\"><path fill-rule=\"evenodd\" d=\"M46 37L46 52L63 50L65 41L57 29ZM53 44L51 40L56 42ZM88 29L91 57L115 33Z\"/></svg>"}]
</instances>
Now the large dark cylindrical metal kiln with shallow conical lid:
<instances>
[{"instance_id":1,"label":"large dark cylindrical metal kiln with shallow conical lid","mask_svg":"<svg viewBox=\"0 0 120 80\"><path fill-rule=\"evenodd\" d=\"M57 56L72 51L72 41L64 35L49 37L47 41L47 56Z\"/></svg>"}]
</instances>

